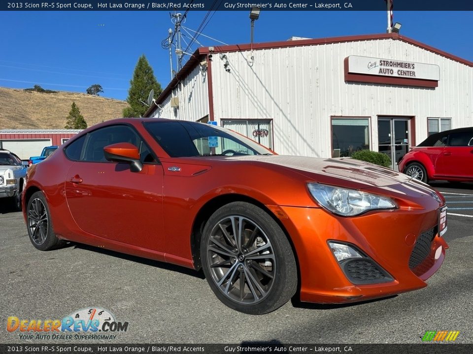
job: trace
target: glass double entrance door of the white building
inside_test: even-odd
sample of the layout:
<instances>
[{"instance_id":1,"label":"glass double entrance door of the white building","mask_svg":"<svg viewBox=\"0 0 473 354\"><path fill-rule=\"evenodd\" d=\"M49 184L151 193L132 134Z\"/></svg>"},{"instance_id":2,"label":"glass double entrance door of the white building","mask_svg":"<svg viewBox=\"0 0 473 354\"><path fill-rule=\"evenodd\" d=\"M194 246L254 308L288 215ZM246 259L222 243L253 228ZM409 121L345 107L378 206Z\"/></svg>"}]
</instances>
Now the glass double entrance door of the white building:
<instances>
[{"instance_id":1,"label":"glass double entrance door of the white building","mask_svg":"<svg viewBox=\"0 0 473 354\"><path fill-rule=\"evenodd\" d=\"M409 118L378 118L378 151L391 158L391 168L399 171L399 161L409 151Z\"/></svg>"}]
</instances>

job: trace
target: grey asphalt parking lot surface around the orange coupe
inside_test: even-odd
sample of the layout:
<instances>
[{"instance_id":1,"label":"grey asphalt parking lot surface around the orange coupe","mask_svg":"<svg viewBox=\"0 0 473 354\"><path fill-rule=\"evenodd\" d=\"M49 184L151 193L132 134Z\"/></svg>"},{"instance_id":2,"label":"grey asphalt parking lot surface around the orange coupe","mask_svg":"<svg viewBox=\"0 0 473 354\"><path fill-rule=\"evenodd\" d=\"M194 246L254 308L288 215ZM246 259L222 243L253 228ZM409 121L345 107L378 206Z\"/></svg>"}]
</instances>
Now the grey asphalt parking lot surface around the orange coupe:
<instances>
[{"instance_id":1,"label":"grey asphalt parking lot surface around the orange coupe","mask_svg":"<svg viewBox=\"0 0 473 354\"><path fill-rule=\"evenodd\" d=\"M129 323L111 343L421 343L427 330L473 343L473 184L432 185L449 208L449 249L427 288L342 306L294 300L263 316L224 306L202 272L81 244L37 251L22 214L0 204L0 342L38 343L7 332L9 316L62 319L94 307Z\"/></svg>"}]
</instances>

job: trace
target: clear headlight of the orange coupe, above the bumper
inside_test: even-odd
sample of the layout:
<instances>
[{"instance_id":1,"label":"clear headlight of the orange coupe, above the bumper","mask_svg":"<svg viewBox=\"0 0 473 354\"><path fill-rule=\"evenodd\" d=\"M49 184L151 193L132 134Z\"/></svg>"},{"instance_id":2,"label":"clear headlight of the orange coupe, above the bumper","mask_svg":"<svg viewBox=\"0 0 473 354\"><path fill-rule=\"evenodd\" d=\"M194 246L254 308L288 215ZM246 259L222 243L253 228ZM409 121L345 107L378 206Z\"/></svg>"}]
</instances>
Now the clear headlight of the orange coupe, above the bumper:
<instances>
[{"instance_id":1,"label":"clear headlight of the orange coupe, above the bumper","mask_svg":"<svg viewBox=\"0 0 473 354\"><path fill-rule=\"evenodd\" d=\"M341 216L359 215L369 210L397 208L388 198L354 189L332 187L319 183L307 183L307 186L318 204Z\"/></svg>"}]
</instances>

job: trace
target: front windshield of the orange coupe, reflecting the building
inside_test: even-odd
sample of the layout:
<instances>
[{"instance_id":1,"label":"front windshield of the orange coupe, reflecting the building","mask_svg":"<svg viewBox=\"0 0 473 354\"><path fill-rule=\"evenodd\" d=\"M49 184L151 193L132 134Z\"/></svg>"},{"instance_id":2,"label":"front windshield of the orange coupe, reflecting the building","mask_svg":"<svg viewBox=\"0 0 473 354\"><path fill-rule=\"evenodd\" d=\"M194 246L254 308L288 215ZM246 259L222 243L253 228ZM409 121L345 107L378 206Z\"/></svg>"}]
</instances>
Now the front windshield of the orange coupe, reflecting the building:
<instances>
[{"instance_id":1,"label":"front windshield of the orange coupe, reflecting the building","mask_svg":"<svg viewBox=\"0 0 473 354\"><path fill-rule=\"evenodd\" d=\"M171 157L272 154L253 140L216 125L170 120L145 122L144 126Z\"/></svg>"}]
</instances>

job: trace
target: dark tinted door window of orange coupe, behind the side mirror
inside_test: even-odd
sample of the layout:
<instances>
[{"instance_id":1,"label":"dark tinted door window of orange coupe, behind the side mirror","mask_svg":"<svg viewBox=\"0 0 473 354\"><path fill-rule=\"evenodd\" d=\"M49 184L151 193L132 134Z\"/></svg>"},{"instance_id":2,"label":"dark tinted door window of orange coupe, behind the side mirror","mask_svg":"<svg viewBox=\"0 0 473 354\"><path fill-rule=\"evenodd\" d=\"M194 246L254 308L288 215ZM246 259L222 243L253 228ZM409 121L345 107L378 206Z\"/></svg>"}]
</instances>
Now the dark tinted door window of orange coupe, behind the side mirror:
<instances>
[{"instance_id":1,"label":"dark tinted door window of orange coupe, behind the side mirror","mask_svg":"<svg viewBox=\"0 0 473 354\"><path fill-rule=\"evenodd\" d=\"M107 162L103 154L103 148L107 145L117 143L131 143L139 147L141 143L135 131L127 125L113 125L97 129L89 133L89 139L85 148L82 161Z\"/></svg>"}]
</instances>

